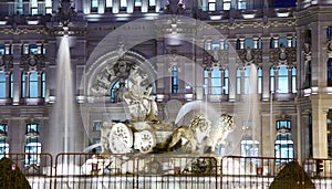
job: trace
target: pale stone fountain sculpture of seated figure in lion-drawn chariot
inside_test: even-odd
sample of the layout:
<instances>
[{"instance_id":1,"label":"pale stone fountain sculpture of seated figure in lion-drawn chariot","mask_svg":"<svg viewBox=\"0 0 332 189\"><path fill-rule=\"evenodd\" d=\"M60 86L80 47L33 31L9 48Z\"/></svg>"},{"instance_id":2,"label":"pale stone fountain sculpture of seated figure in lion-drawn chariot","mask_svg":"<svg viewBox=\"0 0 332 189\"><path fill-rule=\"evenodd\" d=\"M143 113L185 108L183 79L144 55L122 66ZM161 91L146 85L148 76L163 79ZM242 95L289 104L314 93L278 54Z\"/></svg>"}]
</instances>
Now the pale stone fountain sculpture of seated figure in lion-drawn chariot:
<instances>
[{"instance_id":1,"label":"pale stone fountain sculpture of seated figure in lion-drawn chariot","mask_svg":"<svg viewBox=\"0 0 332 189\"><path fill-rule=\"evenodd\" d=\"M147 76L139 67L135 67L131 73L132 85L123 94L123 99L128 107L131 119L126 122L105 122L101 130L102 154L93 159L89 159L84 165L90 168L90 164L108 165L120 168L120 172L133 172L128 170L135 164L148 156L165 157L199 157L215 156L215 147L235 129L232 116L222 114L217 122L211 124L206 115L194 116L188 126L174 127L172 124L157 118L157 104L155 97L151 95L152 88L144 85ZM142 156L142 159L139 159ZM129 162L133 159L133 162ZM154 161L156 160L153 158ZM112 162L117 162L112 164ZM123 165L126 166L123 166ZM145 169L141 164L138 170ZM160 164L162 162L157 162ZM189 162L188 162L189 164ZM191 162L190 162L191 164ZM183 169L185 169L184 164ZM85 170L90 172L91 170Z\"/></svg>"}]
</instances>

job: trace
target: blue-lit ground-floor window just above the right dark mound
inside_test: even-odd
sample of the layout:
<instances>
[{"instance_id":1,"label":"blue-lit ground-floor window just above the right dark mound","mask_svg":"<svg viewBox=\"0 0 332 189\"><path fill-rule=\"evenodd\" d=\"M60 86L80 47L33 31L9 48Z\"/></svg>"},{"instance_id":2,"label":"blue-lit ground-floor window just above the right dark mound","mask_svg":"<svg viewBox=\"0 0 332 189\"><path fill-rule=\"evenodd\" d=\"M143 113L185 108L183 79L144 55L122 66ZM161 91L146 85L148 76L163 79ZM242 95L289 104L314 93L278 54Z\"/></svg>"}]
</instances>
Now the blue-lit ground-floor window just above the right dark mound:
<instances>
[{"instance_id":1,"label":"blue-lit ground-floor window just above the right dark mound","mask_svg":"<svg viewBox=\"0 0 332 189\"><path fill-rule=\"evenodd\" d=\"M274 156L276 158L286 158L286 159L276 159L276 164L292 161L294 158L294 143L291 139L291 134L279 133L277 135L277 140L274 143Z\"/></svg>"}]
</instances>

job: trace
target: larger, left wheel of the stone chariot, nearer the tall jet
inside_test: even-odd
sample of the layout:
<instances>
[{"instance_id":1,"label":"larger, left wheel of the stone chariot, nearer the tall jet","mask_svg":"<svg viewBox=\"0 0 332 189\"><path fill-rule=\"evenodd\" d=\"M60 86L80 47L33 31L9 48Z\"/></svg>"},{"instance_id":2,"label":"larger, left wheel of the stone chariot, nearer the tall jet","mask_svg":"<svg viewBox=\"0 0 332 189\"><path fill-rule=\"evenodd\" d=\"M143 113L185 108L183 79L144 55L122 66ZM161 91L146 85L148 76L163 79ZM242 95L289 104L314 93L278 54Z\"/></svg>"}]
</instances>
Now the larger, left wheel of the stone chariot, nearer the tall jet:
<instances>
[{"instance_id":1,"label":"larger, left wheel of the stone chariot, nearer the tall jet","mask_svg":"<svg viewBox=\"0 0 332 189\"><path fill-rule=\"evenodd\" d=\"M133 147L133 132L125 124L115 124L108 134L110 149L113 154L127 154Z\"/></svg>"}]
</instances>

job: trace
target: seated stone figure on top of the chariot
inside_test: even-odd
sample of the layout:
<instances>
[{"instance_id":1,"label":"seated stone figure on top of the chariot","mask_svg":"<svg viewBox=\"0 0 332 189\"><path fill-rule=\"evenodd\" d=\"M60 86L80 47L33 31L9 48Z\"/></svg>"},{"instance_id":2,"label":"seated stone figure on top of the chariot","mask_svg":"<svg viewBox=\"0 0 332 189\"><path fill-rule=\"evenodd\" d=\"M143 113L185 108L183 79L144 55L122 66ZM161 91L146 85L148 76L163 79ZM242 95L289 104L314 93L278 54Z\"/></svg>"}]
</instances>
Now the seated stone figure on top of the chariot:
<instances>
[{"instance_id":1,"label":"seated stone figure on top of the chariot","mask_svg":"<svg viewBox=\"0 0 332 189\"><path fill-rule=\"evenodd\" d=\"M132 122L157 122L158 108L155 97L151 96L152 87L144 86L145 75L136 69L131 75L132 86L124 93L123 99L126 102L132 116Z\"/></svg>"}]
</instances>

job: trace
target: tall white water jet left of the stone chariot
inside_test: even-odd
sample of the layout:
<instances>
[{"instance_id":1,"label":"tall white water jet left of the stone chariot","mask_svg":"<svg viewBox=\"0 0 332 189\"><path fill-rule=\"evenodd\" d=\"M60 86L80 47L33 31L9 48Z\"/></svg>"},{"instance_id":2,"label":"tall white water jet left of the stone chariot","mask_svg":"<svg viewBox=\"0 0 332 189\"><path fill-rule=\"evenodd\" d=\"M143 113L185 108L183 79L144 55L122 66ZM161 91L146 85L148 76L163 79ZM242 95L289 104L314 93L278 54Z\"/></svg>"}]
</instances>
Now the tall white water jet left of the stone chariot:
<instances>
[{"instance_id":1,"label":"tall white water jet left of the stone chariot","mask_svg":"<svg viewBox=\"0 0 332 189\"><path fill-rule=\"evenodd\" d=\"M56 94L51 124L51 150L59 153L77 151L79 130L75 128L75 106L69 36L61 39L56 59Z\"/></svg>"}]
</instances>

